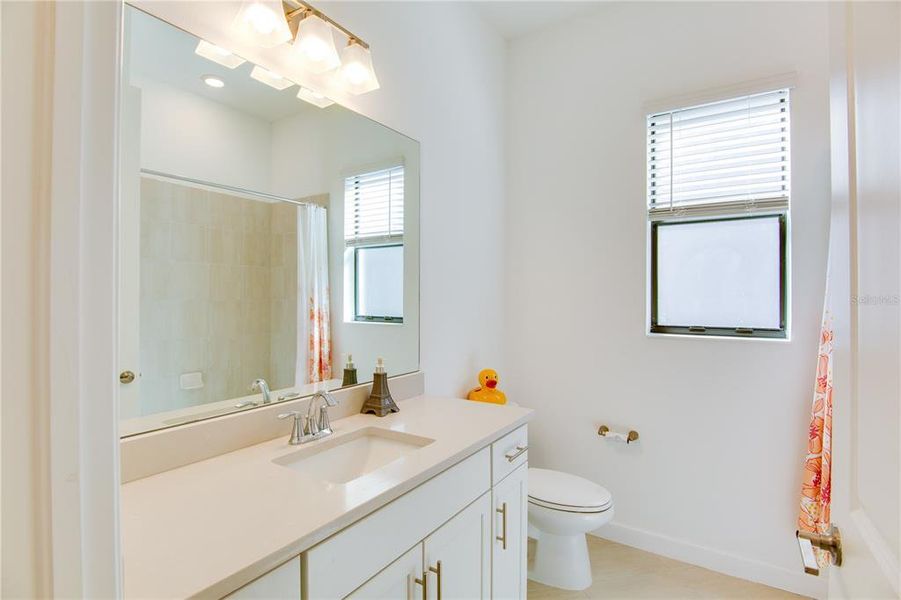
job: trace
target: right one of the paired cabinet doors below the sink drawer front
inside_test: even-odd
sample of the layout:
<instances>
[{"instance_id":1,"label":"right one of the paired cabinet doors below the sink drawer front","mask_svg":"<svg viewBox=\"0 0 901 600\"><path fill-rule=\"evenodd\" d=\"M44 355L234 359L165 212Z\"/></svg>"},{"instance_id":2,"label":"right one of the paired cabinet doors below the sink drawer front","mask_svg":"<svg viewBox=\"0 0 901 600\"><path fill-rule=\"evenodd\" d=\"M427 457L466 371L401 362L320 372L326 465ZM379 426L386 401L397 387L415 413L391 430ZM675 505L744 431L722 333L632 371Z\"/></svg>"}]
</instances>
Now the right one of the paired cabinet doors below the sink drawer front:
<instances>
[{"instance_id":1,"label":"right one of the paired cabinet doors below the sink drawer front","mask_svg":"<svg viewBox=\"0 0 901 600\"><path fill-rule=\"evenodd\" d=\"M425 539L427 597L489 598L490 536L491 493L488 492Z\"/></svg>"}]
</instances>

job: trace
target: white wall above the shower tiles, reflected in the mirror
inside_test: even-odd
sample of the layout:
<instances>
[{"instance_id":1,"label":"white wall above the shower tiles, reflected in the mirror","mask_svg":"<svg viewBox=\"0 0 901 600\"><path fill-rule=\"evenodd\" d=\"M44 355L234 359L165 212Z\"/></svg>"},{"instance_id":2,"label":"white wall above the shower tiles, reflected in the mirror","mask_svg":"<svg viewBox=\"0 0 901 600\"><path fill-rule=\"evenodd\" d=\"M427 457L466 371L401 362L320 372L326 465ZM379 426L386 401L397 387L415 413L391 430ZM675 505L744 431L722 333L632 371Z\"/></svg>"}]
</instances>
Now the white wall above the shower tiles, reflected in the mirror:
<instances>
[{"instance_id":1,"label":"white wall above the shower tiles, reflected in the mirror","mask_svg":"<svg viewBox=\"0 0 901 600\"><path fill-rule=\"evenodd\" d=\"M269 191L270 123L146 79L141 89L141 168Z\"/></svg>"}]
</instances>

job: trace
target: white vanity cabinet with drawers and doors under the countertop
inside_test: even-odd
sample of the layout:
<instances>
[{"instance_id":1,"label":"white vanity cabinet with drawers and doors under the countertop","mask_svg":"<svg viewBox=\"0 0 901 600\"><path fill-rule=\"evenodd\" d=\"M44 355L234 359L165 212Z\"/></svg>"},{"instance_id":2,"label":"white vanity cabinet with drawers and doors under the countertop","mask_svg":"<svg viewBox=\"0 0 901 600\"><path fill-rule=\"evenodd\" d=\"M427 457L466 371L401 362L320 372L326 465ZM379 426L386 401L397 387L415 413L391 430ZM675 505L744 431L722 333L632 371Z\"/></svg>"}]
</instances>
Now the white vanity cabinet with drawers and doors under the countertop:
<instances>
[{"instance_id":1,"label":"white vanity cabinet with drawers and doors under the countertop","mask_svg":"<svg viewBox=\"0 0 901 600\"><path fill-rule=\"evenodd\" d=\"M525 598L525 448L523 426L310 548L300 597Z\"/></svg>"}]
</instances>

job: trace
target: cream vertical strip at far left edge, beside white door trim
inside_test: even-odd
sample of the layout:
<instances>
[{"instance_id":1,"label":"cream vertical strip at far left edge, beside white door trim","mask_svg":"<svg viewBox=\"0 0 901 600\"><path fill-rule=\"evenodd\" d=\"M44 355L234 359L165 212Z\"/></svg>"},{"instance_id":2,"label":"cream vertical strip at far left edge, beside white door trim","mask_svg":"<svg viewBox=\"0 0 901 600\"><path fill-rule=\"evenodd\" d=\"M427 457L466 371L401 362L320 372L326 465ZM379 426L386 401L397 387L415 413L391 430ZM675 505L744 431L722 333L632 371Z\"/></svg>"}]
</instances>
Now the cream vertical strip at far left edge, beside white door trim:
<instances>
[{"instance_id":1,"label":"cream vertical strip at far left edge, beside white door trim","mask_svg":"<svg viewBox=\"0 0 901 600\"><path fill-rule=\"evenodd\" d=\"M3 202L2 211L2 587L4 598L35 598L50 593L49 480L46 403L34 378L46 347L37 334L46 319L40 277L46 273L46 190L34 185L46 177L49 144L39 136L49 115L41 103L39 74L46 66L37 32L50 11L41 3L11 2L2 11ZM52 59L51 59L52 60ZM46 61L46 62L45 62ZM27 382L27 385L23 385Z\"/></svg>"}]
</instances>

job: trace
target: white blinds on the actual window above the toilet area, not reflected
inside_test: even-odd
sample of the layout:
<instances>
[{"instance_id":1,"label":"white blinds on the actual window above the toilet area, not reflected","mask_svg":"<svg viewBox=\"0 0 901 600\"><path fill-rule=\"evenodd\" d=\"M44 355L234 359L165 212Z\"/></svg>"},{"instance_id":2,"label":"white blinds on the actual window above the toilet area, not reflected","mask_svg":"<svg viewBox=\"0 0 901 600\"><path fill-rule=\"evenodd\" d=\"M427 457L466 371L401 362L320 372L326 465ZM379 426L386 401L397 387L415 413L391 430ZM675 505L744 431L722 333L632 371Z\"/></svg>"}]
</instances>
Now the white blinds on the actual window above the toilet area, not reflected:
<instances>
[{"instance_id":1,"label":"white blinds on the actual window above the toilet area, not reflected","mask_svg":"<svg viewBox=\"0 0 901 600\"><path fill-rule=\"evenodd\" d=\"M789 180L788 90L648 116L652 219L784 209Z\"/></svg>"}]
</instances>

